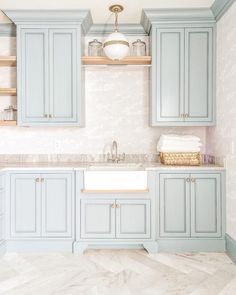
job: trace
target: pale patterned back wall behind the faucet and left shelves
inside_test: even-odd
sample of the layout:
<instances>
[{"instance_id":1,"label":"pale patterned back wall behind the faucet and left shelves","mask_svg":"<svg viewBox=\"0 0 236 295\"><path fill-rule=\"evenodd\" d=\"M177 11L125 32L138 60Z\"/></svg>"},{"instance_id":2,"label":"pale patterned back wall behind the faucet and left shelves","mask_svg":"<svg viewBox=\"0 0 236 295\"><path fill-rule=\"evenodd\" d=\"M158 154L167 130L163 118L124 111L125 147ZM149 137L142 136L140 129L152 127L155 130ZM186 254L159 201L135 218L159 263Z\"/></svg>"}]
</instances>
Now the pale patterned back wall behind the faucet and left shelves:
<instances>
[{"instance_id":1,"label":"pale patterned back wall behind the faucet and left shelves","mask_svg":"<svg viewBox=\"0 0 236 295\"><path fill-rule=\"evenodd\" d=\"M0 55L15 54L14 38L0 38ZM13 69L0 68L0 85L15 84ZM113 139L125 153L156 153L162 133L196 134L205 143L205 128L148 126L149 75L146 67L89 67L86 69L85 128L0 128L0 154L100 154ZM15 103L1 97L0 108Z\"/></svg>"}]
</instances>

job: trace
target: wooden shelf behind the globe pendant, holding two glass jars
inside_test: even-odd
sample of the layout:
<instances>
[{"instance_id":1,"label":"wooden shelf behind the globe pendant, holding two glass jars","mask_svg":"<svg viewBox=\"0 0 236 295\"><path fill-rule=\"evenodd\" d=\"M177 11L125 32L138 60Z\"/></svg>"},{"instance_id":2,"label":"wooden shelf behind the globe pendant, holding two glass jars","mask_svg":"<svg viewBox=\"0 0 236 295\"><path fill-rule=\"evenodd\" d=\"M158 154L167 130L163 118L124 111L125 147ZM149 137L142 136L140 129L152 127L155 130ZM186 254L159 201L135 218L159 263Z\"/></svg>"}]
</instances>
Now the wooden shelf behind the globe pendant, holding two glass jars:
<instances>
[{"instance_id":1,"label":"wooden shelf behind the globe pendant, holding two glass jars","mask_svg":"<svg viewBox=\"0 0 236 295\"><path fill-rule=\"evenodd\" d=\"M104 56L82 56L84 65L151 65L151 56L128 56L122 60L111 60Z\"/></svg>"}]
</instances>

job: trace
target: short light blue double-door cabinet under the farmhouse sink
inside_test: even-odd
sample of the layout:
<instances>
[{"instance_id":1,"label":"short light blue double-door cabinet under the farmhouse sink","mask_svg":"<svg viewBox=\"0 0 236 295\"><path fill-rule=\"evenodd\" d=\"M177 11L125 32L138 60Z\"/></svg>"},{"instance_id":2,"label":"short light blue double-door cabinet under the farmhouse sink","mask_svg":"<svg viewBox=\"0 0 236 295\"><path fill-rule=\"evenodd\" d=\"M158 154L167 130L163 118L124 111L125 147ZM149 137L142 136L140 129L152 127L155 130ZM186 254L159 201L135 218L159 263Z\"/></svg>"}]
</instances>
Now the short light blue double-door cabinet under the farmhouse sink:
<instances>
[{"instance_id":1,"label":"short light blue double-door cabinet under the farmhouse sink","mask_svg":"<svg viewBox=\"0 0 236 295\"><path fill-rule=\"evenodd\" d=\"M150 238L150 200L81 200L81 238Z\"/></svg>"}]
</instances>

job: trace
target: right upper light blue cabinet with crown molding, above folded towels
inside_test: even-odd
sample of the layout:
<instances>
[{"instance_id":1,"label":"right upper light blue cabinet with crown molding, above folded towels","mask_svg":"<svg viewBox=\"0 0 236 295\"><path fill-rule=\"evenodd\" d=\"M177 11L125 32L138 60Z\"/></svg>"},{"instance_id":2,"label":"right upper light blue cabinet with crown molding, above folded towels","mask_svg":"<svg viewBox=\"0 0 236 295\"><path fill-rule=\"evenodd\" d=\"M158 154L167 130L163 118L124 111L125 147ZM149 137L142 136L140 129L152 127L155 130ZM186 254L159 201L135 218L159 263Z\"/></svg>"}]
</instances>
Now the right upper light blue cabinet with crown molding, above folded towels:
<instances>
[{"instance_id":1,"label":"right upper light blue cabinet with crown molding, above folded towels","mask_svg":"<svg viewBox=\"0 0 236 295\"><path fill-rule=\"evenodd\" d=\"M212 12L205 9L150 11L145 11L143 18L151 34L151 125L214 125Z\"/></svg>"}]
</instances>

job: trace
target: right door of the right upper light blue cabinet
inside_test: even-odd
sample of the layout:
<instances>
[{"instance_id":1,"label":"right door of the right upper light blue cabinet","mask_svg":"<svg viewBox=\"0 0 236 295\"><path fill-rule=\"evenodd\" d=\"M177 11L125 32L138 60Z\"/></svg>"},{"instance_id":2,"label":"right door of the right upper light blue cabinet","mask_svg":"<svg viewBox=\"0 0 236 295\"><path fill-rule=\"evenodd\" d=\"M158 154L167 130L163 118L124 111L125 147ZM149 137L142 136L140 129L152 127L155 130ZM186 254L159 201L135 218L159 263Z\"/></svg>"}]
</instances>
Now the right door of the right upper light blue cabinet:
<instances>
[{"instance_id":1,"label":"right door of the right upper light blue cabinet","mask_svg":"<svg viewBox=\"0 0 236 295\"><path fill-rule=\"evenodd\" d=\"M185 30L186 122L213 121L212 28Z\"/></svg>"}]
</instances>

